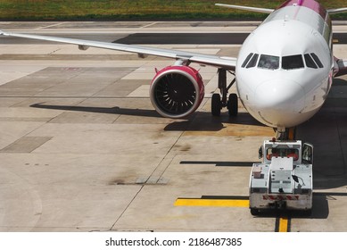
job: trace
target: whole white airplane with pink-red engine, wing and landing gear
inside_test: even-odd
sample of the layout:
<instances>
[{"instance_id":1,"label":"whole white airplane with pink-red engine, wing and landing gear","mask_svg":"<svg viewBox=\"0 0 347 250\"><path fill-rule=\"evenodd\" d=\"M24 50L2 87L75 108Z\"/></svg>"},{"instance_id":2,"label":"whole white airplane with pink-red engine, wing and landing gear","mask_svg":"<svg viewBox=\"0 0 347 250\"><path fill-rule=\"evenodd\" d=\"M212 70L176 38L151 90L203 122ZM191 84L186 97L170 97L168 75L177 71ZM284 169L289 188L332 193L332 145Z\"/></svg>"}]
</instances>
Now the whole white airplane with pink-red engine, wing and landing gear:
<instances>
[{"instance_id":1,"label":"whole white airplane with pink-red engine, wing and landing gear","mask_svg":"<svg viewBox=\"0 0 347 250\"><path fill-rule=\"evenodd\" d=\"M150 87L153 107L168 118L184 118L202 103L202 76L190 63L216 67L220 95L211 97L212 115L219 116L227 107L229 115L236 116L240 99L252 117L277 129L278 137L288 138L290 129L318 112L333 78L347 74L347 60L333 54L330 20L330 14L347 12L347 7L326 10L314 0L288 0L277 9L216 5L269 13L245 39L237 58L1 30L0 35L75 44L80 50L91 46L135 53L141 58L156 55L174 59L173 65L156 70ZM235 75L229 84L227 72ZM237 94L227 96L235 83Z\"/></svg>"}]
</instances>

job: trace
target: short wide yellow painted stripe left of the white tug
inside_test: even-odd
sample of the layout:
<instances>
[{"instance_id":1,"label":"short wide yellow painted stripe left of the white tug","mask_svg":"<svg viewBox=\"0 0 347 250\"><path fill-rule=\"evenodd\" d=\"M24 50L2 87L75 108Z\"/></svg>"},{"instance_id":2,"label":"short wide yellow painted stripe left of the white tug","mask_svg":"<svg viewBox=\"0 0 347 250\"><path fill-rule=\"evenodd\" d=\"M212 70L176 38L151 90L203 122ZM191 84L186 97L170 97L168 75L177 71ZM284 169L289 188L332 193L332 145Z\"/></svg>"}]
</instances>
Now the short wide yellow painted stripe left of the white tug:
<instances>
[{"instance_id":1,"label":"short wide yellow painted stripe left of the white tug","mask_svg":"<svg viewBox=\"0 0 347 250\"><path fill-rule=\"evenodd\" d=\"M249 207L249 200L177 199L175 205Z\"/></svg>"}]
</instances>

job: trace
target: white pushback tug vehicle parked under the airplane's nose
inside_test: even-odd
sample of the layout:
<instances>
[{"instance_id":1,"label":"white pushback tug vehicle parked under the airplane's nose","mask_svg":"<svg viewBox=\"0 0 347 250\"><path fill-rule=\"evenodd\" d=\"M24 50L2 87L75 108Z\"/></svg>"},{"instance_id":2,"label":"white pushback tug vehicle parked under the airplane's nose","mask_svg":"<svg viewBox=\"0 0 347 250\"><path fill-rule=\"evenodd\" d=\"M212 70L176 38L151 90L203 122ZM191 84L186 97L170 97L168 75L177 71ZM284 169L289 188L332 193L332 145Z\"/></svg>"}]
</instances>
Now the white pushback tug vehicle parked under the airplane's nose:
<instances>
[{"instance_id":1,"label":"white pushback tug vehicle parked under the airplane's nose","mask_svg":"<svg viewBox=\"0 0 347 250\"><path fill-rule=\"evenodd\" d=\"M262 162L253 163L250 178L252 215L270 209L312 209L313 146L301 140L265 140L260 147Z\"/></svg>"}]
</instances>

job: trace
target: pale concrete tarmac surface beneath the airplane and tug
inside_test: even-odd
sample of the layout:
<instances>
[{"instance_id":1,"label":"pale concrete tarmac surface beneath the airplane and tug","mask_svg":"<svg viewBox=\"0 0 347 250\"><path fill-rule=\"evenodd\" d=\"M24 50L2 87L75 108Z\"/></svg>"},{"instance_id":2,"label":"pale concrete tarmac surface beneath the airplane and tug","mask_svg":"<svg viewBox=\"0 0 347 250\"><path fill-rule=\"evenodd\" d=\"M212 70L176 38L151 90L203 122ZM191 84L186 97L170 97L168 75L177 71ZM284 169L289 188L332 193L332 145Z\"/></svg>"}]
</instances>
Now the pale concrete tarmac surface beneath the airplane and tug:
<instances>
[{"instance_id":1,"label":"pale concrete tarmac surface beneath the airplane and tug","mask_svg":"<svg viewBox=\"0 0 347 250\"><path fill-rule=\"evenodd\" d=\"M151 33L249 33L257 22L0 22L16 32L113 42ZM336 33L346 27L335 23ZM135 34L135 35L134 35ZM185 39L180 36L180 39ZM347 58L347 46L335 56ZM141 41L137 41L141 44ZM153 45L154 46L154 45ZM158 46L158 45L155 45ZM167 48L237 56L239 45ZM252 162L274 136L240 105L239 116L211 116L215 68L200 69L206 91L186 120L162 118L148 89L149 56L0 37L0 231L346 231L347 77L297 128L315 146L310 217L254 217L247 200ZM235 88L231 91L235 91ZM185 199L183 199L185 198ZM180 203L181 200L190 200Z\"/></svg>"}]
</instances>

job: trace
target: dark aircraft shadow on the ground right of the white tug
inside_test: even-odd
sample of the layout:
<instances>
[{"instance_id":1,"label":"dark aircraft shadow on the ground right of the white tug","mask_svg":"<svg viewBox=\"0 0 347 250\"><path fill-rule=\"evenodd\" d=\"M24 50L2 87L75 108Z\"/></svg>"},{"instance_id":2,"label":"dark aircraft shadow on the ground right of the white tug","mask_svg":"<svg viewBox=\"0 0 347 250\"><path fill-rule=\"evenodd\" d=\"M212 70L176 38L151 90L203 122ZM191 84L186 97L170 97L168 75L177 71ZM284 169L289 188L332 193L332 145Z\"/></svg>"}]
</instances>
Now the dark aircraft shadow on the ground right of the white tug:
<instances>
[{"instance_id":1,"label":"dark aircraft shadow on the ground right of the white tug","mask_svg":"<svg viewBox=\"0 0 347 250\"><path fill-rule=\"evenodd\" d=\"M313 187L347 185L347 81L335 79L321 110L296 129L296 137L314 146Z\"/></svg>"}]
</instances>

